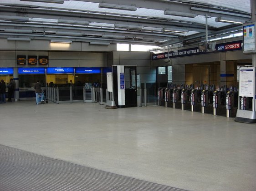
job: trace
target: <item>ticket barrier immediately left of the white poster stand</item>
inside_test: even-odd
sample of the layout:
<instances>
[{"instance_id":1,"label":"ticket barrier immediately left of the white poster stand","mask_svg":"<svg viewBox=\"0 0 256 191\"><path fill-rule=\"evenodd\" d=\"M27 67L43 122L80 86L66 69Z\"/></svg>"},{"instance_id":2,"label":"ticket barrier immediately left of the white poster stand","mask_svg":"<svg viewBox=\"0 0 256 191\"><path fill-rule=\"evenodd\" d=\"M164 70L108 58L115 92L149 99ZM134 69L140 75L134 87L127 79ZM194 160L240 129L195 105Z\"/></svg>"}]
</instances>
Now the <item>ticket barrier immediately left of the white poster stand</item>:
<instances>
[{"instance_id":1,"label":"ticket barrier immediately left of the white poster stand","mask_svg":"<svg viewBox=\"0 0 256 191\"><path fill-rule=\"evenodd\" d=\"M247 105L247 107L249 104ZM236 111L238 108L238 92L228 91L226 93L226 117L236 117Z\"/></svg>"}]
</instances>

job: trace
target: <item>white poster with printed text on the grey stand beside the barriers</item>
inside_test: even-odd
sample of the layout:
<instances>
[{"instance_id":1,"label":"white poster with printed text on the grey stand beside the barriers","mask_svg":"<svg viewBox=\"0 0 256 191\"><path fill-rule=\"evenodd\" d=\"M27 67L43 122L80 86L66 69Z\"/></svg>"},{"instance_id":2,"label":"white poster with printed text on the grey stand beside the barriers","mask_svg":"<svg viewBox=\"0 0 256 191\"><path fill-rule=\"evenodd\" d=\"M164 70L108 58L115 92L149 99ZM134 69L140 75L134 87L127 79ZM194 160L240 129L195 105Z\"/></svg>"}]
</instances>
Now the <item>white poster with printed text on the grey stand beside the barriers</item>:
<instances>
[{"instance_id":1,"label":"white poster with printed text on the grey stand beside the barriers","mask_svg":"<svg viewBox=\"0 0 256 191\"><path fill-rule=\"evenodd\" d=\"M239 69L239 96L254 97L255 95L255 67L241 67Z\"/></svg>"}]
</instances>

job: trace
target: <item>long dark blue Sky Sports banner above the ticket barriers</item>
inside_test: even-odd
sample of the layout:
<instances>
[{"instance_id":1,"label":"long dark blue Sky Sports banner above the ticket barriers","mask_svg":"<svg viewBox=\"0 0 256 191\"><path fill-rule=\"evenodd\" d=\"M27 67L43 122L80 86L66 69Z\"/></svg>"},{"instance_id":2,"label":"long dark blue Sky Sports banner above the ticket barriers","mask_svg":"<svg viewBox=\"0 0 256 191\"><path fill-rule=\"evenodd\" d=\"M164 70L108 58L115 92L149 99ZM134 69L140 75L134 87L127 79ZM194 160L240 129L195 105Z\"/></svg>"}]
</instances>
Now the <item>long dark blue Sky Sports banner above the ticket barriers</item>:
<instances>
[{"instance_id":1,"label":"long dark blue Sky Sports banner above the ticket barriers","mask_svg":"<svg viewBox=\"0 0 256 191\"><path fill-rule=\"evenodd\" d=\"M200 55L200 54L210 54L210 53L242 50L242 46L243 46L243 41L238 40L238 41L234 41L234 42L216 44L215 45L215 51L212 51L212 52L206 52L206 51L200 52L198 47L190 48L190 49L170 51L169 52L169 59L179 58L179 57L184 57L184 56L194 56L194 55ZM152 59L153 60L168 59L168 53L164 52L164 53L159 53L159 54L153 54Z\"/></svg>"}]
</instances>

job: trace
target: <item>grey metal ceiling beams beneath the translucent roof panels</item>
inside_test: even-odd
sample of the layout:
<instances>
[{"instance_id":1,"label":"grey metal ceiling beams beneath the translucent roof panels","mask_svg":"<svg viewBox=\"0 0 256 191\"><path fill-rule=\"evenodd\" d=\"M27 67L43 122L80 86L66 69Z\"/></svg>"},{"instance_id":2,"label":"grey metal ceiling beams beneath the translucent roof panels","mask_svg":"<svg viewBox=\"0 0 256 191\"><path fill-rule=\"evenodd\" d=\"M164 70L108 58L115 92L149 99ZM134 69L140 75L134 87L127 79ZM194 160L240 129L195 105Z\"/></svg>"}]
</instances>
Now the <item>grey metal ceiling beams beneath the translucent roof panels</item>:
<instances>
[{"instance_id":1,"label":"grey metal ceiling beams beneath the translucent roof panels","mask_svg":"<svg viewBox=\"0 0 256 191\"><path fill-rule=\"evenodd\" d=\"M138 8L163 10L165 13L181 12L184 15L204 15L207 17L226 16L233 19L248 21L250 13L213 5L202 5L183 0L78 0L92 3L101 3L102 7L113 9ZM166 46L169 44L189 44L205 37L205 24L188 20L174 20L143 15L128 15L107 13L92 10L76 10L69 8L53 8L35 5L0 4L0 37L30 37L31 39L70 39L81 42L106 42L126 44L154 44ZM8 19L9 18L9 19ZM56 20L46 23L43 20ZM169 17L168 17L169 18ZM59 22L57 22L59 21ZM74 21L74 22L72 22ZM102 23L102 26L97 23ZM118 29L117 26L124 26ZM115 27L116 26L116 27ZM132 26L134 29L132 29ZM209 36L220 35L236 30L237 25L228 25L220 29L208 25ZM241 26L240 26L241 27ZM239 28L239 27L238 27ZM238 29L237 28L237 29ZM197 34L186 36L164 29L180 29L195 31ZM234 31L233 30L233 31ZM238 29L239 30L239 29Z\"/></svg>"}]
</instances>

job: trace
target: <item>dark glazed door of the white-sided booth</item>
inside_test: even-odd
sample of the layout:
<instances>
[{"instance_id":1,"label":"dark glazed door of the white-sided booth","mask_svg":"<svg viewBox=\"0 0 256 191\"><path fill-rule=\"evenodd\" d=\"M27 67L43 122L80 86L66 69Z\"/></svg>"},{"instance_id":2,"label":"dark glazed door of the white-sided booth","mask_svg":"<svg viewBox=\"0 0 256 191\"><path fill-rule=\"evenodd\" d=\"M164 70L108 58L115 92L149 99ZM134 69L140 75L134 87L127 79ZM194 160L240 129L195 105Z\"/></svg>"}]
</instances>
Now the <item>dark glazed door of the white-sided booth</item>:
<instances>
[{"instance_id":1,"label":"dark glazed door of the white-sided booth","mask_svg":"<svg viewBox=\"0 0 256 191\"><path fill-rule=\"evenodd\" d=\"M125 108L137 107L136 66L124 66L125 73Z\"/></svg>"}]
</instances>

